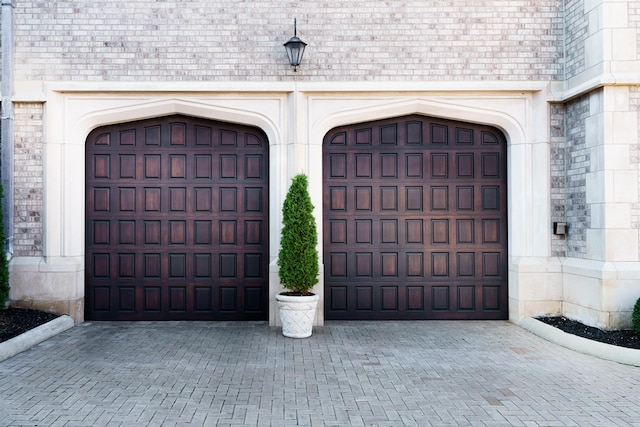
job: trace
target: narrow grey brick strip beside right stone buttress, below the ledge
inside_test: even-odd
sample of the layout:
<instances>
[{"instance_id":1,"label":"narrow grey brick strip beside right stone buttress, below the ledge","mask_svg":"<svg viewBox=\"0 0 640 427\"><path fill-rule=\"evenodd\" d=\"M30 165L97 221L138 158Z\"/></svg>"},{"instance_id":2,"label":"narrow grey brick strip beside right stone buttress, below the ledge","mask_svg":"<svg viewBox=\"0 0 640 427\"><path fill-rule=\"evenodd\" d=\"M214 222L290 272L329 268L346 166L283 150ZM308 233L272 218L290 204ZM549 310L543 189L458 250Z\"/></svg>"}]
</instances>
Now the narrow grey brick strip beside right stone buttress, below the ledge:
<instances>
[{"instance_id":1,"label":"narrow grey brick strip beside right stone buttress, below the ledge","mask_svg":"<svg viewBox=\"0 0 640 427\"><path fill-rule=\"evenodd\" d=\"M574 258L586 257L586 234L591 226L586 188L586 175L590 167L585 123L590 114L589 98L590 95L587 94L566 104L565 212L570 227L566 238L566 255Z\"/></svg>"}]
</instances>

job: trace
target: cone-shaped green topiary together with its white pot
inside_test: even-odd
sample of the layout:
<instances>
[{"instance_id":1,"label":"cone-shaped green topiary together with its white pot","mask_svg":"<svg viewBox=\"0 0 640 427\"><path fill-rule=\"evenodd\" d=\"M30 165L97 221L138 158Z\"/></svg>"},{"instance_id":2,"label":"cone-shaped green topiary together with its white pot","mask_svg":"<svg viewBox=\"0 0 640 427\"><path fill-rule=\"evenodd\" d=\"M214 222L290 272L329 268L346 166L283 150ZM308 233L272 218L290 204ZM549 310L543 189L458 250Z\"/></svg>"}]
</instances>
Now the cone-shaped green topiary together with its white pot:
<instances>
[{"instance_id":1,"label":"cone-shaped green topiary together with its white pot","mask_svg":"<svg viewBox=\"0 0 640 427\"><path fill-rule=\"evenodd\" d=\"M311 336L318 295L318 233L307 176L293 177L282 205L282 232L278 252L278 276L286 291L276 295L282 334L291 338Z\"/></svg>"}]
</instances>

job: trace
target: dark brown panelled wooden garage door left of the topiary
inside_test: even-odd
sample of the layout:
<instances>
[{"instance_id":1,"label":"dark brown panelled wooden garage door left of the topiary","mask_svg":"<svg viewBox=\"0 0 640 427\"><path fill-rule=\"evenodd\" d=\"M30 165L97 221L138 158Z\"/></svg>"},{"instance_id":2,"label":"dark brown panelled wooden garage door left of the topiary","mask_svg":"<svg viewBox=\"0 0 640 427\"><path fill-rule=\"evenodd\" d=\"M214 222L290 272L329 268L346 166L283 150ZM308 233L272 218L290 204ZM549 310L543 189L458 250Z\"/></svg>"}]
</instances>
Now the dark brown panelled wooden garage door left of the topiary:
<instances>
[{"instance_id":1,"label":"dark brown panelled wooden garage door left of the topiary","mask_svg":"<svg viewBox=\"0 0 640 427\"><path fill-rule=\"evenodd\" d=\"M267 318L264 133L171 116L96 129L86 153L88 319Z\"/></svg>"}]
</instances>

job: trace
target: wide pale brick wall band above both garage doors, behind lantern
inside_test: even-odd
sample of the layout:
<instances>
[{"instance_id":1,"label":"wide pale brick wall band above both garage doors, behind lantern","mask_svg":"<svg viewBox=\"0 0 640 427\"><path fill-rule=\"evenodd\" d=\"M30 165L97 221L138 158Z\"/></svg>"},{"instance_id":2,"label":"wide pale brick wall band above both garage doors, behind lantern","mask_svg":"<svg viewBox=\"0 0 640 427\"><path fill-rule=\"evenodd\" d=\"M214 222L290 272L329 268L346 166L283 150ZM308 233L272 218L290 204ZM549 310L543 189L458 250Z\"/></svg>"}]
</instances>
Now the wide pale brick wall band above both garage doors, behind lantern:
<instances>
[{"instance_id":1,"label":"wide pale brick wall band above both garage doors, behind lantern","mask_svg":"<svg viewBox=\"0 0 640 427\"><path fill-rule=\"evenodd\" d=\"M290 79L282 44L297 17L309 44L301 80L554 80L562 9L559 0L24 0L16 78Z\"/></svg>"}]
</instances>

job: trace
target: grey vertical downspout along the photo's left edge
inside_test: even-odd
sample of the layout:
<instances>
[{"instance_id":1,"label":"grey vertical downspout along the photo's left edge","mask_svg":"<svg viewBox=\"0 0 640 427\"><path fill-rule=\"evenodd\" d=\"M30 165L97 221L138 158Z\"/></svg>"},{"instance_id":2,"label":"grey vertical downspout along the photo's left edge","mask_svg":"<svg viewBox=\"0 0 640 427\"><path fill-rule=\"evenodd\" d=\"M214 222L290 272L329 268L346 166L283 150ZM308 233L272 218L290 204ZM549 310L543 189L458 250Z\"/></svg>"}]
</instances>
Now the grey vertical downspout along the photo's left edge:
<instances>
[{"instance_id":1,"label":"grey vertical downspout along the photo's left edge","mask_svg":"<svg viewBox=\"0 0 640 427\"><path fill-rule=\"evenodd\" d=\"M2 157L0 176L4 188L2 214L7 256L13 255L13 0L2 0Z\"/></svg>"}]
</instances>

